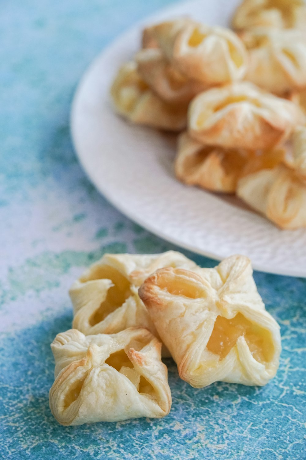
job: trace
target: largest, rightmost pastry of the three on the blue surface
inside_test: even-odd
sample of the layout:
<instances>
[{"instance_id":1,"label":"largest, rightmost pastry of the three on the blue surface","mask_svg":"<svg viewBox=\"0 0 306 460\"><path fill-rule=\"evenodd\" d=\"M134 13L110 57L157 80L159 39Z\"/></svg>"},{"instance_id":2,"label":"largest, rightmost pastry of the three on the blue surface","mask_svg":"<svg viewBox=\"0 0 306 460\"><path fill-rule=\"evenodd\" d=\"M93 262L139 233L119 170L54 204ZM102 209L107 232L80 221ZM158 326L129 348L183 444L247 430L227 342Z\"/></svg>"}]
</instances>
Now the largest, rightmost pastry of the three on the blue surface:
<instances>
[{"instance_id":1,"label":"largest, rightmost pastry of the three on the blue surface","mask_svg":"<svg viewBox=\"0 0 306 460\"><path fill-rule=\"evenodd\" d=\"M266 385L275 376L279 326L265 310L246 257L196 272L157 270L139 296L190 385Z\"/></svg>"}]
</instances>

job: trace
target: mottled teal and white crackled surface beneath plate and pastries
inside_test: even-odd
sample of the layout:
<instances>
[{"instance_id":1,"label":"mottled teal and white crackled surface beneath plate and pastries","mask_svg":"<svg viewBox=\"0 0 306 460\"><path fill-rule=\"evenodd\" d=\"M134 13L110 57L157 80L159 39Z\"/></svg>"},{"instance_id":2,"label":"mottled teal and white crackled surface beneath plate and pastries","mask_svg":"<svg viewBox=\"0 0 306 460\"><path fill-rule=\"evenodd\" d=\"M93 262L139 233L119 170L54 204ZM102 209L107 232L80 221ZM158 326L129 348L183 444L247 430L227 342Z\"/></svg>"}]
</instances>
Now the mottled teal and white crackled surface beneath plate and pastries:
<instances>
[{"instance_id":1,"label":"mottled teal and white crackled surface beneath plate and pastries","mask_svg":"<svg viewBox=\"0 0 306 460\"><path fill-rule=\"evenodd\" d=\"M255 273L283 338L277 377L266 387L195 390L168 360L173 405L163 420L61 427L50 413L50 342L71 326L72 281L105 252L174 248L95 191L69 136L72 95L90 61L170 3L0 3L0 458L306 458L304 279Z\"/></svg>"}]
</instances>

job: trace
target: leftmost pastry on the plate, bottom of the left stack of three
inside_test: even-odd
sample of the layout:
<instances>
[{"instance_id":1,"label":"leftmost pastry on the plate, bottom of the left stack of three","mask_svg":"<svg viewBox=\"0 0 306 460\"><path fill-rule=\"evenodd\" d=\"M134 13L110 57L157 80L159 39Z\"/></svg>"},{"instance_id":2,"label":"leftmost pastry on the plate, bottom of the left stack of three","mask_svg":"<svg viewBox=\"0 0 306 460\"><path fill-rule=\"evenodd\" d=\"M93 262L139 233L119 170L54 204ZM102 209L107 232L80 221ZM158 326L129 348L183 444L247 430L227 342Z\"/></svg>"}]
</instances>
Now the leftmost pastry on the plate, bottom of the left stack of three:
<instances>
[{"instance_id":1,"label":"leftmost pastry on the plate, bottom of the left stack of three","mask_svg":"<svg viewBox=\"0 0 306 460\"><path fill-rule=\"evenodd\" d=\"M117 113L133 123L166 131L181 131L186 126L187 105L168 104L158 98L140 78L134 62L119 70L111 97Z\"/></svg>"}]
</instances>

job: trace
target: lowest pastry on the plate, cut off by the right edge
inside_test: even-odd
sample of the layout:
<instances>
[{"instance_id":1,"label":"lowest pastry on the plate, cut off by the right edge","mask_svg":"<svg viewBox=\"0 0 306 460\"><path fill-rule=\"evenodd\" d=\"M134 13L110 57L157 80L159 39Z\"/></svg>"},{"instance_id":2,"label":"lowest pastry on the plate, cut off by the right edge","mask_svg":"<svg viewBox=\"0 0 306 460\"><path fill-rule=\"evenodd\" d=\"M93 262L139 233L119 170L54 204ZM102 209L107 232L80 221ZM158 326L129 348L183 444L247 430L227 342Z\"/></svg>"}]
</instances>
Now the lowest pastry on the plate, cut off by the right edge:
<instances>
[{"instance_id":1,"label":"lowest pastry on the plate, cut off by the right edge","mask_svg":"<svg viewBox=\"0 0 306 460\"><path fill-rule=\"evenodd\" d=\"M241 178L237 195L282 229L306 228L306 128L296 128L292 155Z\"/></svg>"}]
</instances>

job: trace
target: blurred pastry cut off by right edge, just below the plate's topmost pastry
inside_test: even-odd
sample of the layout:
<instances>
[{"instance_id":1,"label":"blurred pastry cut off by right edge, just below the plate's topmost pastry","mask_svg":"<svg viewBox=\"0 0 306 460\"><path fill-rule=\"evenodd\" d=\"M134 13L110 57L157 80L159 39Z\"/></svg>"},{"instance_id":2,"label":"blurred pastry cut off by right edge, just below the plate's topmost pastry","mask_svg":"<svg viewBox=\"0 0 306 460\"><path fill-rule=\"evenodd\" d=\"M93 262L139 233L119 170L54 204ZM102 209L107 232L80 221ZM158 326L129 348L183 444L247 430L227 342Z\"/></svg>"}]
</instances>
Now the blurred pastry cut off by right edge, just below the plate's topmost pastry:
<instances>
[{"instance_id":1,"label":"blurred pastry cut off by right edge, just below the plate's topmost pastry","mask_svg":"<svg viewBox=\"0 0 306 460\"><path fill-rule=\"evenodd\" d=\"M279 95L306 87L305 33L256 29L242 38L249 48L245 80Z\"/></svg>"}]
</instances>

